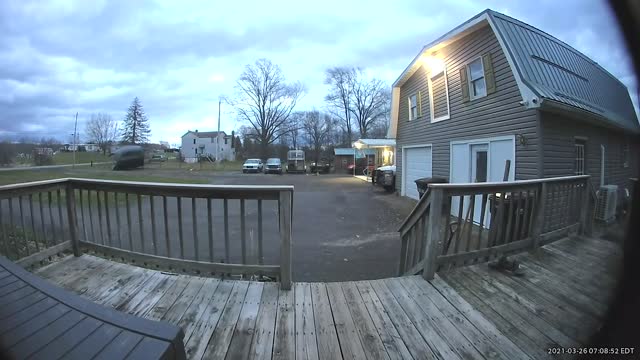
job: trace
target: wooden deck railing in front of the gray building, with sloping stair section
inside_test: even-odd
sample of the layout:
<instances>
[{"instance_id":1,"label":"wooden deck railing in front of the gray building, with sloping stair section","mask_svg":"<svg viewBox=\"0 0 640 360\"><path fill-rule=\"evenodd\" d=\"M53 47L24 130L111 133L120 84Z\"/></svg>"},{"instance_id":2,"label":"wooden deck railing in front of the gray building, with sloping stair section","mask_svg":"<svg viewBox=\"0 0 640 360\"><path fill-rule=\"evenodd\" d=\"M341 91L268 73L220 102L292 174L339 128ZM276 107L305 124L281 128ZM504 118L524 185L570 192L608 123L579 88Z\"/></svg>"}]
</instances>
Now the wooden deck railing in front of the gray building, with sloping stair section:
<instances>
[{"instance_id":1,"label":"wooden deck railing in front of the gray building, with sloping stair section","mask_svg":"<svg viewBox=\"0 0 640 360\"><path fill-rule=\"evenodd\" d=\"M400 227L400 275L533 250L588 224L589 176L432 184Z\"/></svg>"}]
</instances>

